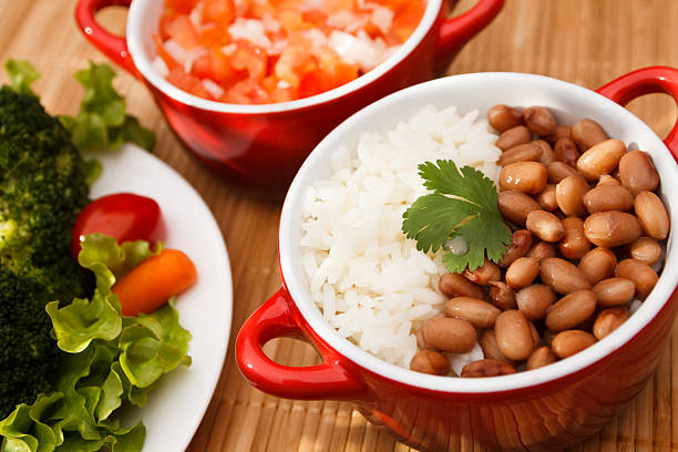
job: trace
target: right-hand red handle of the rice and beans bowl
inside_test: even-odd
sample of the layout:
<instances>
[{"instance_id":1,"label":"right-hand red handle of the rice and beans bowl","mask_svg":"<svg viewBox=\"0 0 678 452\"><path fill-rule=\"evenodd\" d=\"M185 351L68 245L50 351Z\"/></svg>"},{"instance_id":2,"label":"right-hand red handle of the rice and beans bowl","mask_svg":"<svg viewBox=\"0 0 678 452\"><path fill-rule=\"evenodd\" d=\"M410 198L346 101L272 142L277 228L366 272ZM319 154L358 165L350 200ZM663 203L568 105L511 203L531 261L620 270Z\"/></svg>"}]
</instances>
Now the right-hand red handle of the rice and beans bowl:
<instances>
[{"instance_id":1,"label":"right-hand red handle of the rice and beans bowl","mask_svg":"<svg viewBox=\"0 0 678 452\"><path fill-rule=\"evenodd\" d=\"M636 97L651 93L666 93L678 103L678 69L668 66L638 69L613 80L596 92L620 105L626 105ZM664 143L678 163L678 122Z\"/></svg>"}]
</instances>

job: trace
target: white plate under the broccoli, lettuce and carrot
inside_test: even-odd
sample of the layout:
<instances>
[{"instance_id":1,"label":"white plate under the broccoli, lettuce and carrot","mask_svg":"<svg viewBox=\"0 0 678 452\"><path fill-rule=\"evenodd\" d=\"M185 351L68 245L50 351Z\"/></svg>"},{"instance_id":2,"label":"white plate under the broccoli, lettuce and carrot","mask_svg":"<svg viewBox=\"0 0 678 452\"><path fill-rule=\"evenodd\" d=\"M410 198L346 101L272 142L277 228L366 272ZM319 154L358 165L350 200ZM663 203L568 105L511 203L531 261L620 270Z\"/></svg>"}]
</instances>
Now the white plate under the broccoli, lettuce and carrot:
<instances>
[{"instance_id":1,"label":"white plate under the broccoli, lettuce and carrot","mask_svg":"<svg viewBox=\"0 0 678 452\"><path fill-rule=\"evenodd\" d=\"M144 451L184 451L205 414L228 348L233 286L226 245L205 202L164 162L131 144L96 158L104 171L91 197L119 192L152 197L163 213L166 246L186 253L197 268L197 282L176 302L181 325L193 335L193 363L167 374L148 404L126 410L123 419L143 419Z\"/></svg>"}]
</instances>

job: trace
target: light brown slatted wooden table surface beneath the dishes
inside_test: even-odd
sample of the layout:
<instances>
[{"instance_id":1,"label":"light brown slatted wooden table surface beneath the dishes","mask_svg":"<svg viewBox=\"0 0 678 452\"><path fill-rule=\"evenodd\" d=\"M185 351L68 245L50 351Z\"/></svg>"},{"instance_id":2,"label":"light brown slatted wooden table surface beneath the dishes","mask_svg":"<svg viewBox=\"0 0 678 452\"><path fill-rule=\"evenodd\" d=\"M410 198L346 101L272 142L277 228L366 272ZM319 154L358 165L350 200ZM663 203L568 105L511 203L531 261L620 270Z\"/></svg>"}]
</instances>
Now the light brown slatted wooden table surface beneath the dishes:
<instances>
[{"instance_id":1,"label":"light brown slatted wooden table surface beneath the dishes","mask_svg":"<svg viewBox=\"0 0 678 452\"><path fill-rule=\"evenodd\" d=\"M473 4L463 0L462 11ZM596 89L634 69L678 66L676 0L507 0L504 11L450 66L450 73L534 72ZM74 113L81 97L72 73L88 60L105 61L78 31L75 0L0 0L0 56L29 59L42 72L35 83L52 113ZM125 11L111 8L102 23L124 32ZM253 389L234 362L240 325L279 285L277 226L280 206L234 191L188 156L168 130L148 92L119 71L116 86L129 109L156 131L155 155L176 168L207 202L230 255L234 317L230 347L219 384L189 451L409 451L350 405L297 402ZM6 81L2 74L2 81ZM676 119L668 96L634 101L629 109L664 136ZM676 269L674 269L676 271ZM675 330L676 331L676 330ZM678 370L671 359L674 333L659 368L643 394L605 430L575 451L668 451L678 449ZM310 346L291 339L267 346L278 362L317 361ZM675 388L674 388L675 387ZM674 391L675 389L675 391ZM674 398L675 397L675 398ZM462 451L483 451L469 440Z\"/></svg>"}]
</instances>

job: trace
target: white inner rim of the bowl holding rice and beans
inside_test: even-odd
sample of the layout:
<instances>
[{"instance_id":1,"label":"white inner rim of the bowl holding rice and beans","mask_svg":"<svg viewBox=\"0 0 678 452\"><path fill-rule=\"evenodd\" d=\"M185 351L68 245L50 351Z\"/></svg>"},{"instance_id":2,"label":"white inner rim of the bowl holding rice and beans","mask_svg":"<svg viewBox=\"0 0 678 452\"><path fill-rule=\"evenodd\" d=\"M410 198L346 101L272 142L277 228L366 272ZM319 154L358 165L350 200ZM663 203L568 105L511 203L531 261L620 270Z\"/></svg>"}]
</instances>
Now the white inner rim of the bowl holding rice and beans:
<instances>
[{"instance_id":1,"label":"white inner rim of the bowl holding rice and beans","mask_svg":"<svg viewBox=\"0 0 678 452\"><path fill-rule=\"evenodd\" d=\"M280 218L280 266L282 277L310 327L332 348L376 373L413 387L452 392L494 392L524 388L557 379L583 369L618 349L646 326L671 296L678 282L678 245L675 232L667 243L665 270L651 295L622 327L593 347L528 372L485 379L436 377L413 372L361 350L340 337L322 318L308 292L301 267L301 201L308 185L330 175L330 155L340 144L356 146L363 132L384 132L428 104L455 105L460 113L477 109L482 115L497 103L518 107L545 105L561 124L583 117L598 121L609 136L624 141L629 150L648 152L661 177L661 197L672 225L678 225L678 170L662 141L638 117L610 100L556 79L520 73L473 73L422 83L391 94L356 113L331 132L306 160L292 182ZM669 196L672 194L674 196Z\"/></svg>"}]
</instances>

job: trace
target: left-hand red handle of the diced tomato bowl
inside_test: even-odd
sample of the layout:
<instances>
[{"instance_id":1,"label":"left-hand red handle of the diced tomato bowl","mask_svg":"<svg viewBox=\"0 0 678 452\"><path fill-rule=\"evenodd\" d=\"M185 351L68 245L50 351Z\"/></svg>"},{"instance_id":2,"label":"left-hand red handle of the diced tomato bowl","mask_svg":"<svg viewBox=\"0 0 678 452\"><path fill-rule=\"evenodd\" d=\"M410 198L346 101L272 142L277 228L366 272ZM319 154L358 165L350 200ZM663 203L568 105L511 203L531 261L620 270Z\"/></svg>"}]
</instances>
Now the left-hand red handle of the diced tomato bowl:
<instances>
[{"instance_id":1,"label":"left-hand red handle of the diced tomato bowl","mask_svg":"<svg viewBox=\"0 0 678 452\"><path fill-rule=\"evenodd\" d=\"M127 51L125 38L109 33L99 25L94 18L104 8L115 6L130 8L131 3L132 0L80 0L75 7L75 21L88 41L121 68L141 79Z\"/></svg>"}]
</instances>

